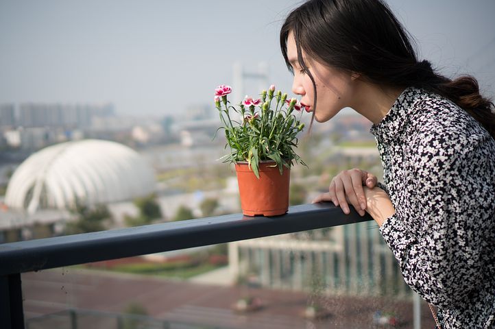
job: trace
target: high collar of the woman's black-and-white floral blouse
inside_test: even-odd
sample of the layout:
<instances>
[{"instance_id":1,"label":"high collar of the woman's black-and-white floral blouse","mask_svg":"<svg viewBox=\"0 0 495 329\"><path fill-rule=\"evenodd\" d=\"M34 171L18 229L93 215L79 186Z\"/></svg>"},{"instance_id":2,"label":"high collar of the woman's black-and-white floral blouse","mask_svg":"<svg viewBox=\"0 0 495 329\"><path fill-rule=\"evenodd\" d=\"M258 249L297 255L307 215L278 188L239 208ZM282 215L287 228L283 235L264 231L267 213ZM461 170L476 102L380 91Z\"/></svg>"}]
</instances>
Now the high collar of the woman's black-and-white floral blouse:
<instances>
[{"instance_id":1,"label":"high collar of the woman's black-and-white floral blouse","mask_svg":"<svg viewBox=\"0 0 495 329\"><path fill-rule=\"evenodd\" d=\"M400 93L394 105L385 117L377 124L372 125L370 132L378 143L390 143L400 138L409 123L413 105L420 100L423 92L415 87L408 87Z\"/></svg>"}]
</instances>

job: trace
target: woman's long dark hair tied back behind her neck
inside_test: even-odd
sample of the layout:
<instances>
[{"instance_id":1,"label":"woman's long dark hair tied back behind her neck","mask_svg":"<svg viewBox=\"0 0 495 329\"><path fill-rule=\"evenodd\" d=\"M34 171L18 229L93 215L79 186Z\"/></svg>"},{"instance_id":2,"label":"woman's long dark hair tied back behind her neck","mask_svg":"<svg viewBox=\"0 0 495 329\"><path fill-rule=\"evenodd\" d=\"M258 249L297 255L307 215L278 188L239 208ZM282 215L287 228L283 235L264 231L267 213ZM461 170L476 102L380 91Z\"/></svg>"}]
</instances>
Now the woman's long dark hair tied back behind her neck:
<instances>
[{"instance_id":1,"label":"woman's long dark hair tied back behind her neck","mask_svg":"<svg viewBox=\"0 0 495 329\"><path fill-rule=\"evenodd\" d=\"M307 56L385 86L424 88L469 112L495 138L494 104L480 95L474 77L450 80L427 60L418 61L411 36L382 0L309 0L293 10L280 30L280 48L290 71L287 38L293 32L298 61L315 90ZM313 111L313 119L315 112ZM313 120L311 121L313 123Z\"/></svg>"}]
</instances>

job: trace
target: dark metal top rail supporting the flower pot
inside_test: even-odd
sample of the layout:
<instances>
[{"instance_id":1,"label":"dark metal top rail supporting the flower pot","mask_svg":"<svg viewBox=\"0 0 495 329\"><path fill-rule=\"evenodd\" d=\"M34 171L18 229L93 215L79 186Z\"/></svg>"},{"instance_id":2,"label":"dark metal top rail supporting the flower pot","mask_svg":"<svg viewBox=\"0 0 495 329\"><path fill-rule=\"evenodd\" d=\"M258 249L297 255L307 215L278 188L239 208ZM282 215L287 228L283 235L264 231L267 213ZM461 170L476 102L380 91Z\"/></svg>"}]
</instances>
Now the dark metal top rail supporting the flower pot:
<instances>
[{"instance_id":1,"label":"dark metal top rail supporting the flower pot","mask_svg":"<svg viewBox=\"0 0 495 329\"><path fill-rule=\"evenodd\" d=\"M0 244L0 276L369 221L330 203L276 217L224 215Z\"/></svg>"}]
</instances>

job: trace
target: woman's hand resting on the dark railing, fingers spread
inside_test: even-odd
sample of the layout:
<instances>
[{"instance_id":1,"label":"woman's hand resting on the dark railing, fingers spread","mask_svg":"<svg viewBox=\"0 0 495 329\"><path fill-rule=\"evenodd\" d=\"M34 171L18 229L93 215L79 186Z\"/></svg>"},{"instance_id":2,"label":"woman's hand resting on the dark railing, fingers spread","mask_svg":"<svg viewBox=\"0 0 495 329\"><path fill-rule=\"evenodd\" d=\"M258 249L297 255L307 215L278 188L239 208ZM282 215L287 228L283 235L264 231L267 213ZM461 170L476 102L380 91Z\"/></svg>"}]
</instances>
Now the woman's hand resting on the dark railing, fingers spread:
<instances>
[{"instance_id":1,"label":"woman's hand resting on the dark railing, fingers spread","mask_svg":"<svg viewBox=\"0 0 495 329\"><path fill-rule=\"evenodd\" d=\"M322 201L331 201L335 206L342 208L346 214L350 213L348 203L354 206L359 215L364 216L367 201L363 186L374 188L378 180L375 175L361 169L341 171L328 186L328 193L319 195L313 204Z\"/></svg>"}]
</instances>

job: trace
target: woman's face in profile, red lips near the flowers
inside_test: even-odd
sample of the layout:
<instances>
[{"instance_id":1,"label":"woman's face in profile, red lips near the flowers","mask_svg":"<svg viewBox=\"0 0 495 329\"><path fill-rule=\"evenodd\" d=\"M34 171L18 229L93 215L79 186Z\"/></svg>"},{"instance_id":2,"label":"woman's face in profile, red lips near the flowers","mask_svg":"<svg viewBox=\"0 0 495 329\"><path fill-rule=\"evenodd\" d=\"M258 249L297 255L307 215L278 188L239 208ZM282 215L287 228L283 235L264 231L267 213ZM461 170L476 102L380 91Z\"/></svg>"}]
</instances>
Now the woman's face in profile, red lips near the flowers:
<instances>
[{"instance_id":1,"label":"woman's face in profile, red lips near the flowers","mask_svg":"<svg viewBox=\"0 0 495 329\"><path fill-rule=\"evenodd\" d=\"M304 51L302 52L304 56ZM298 63L298 50L293 32L287 38L287 58L293 67L292 92L301 95L301 103L314 110L315 93L313 83ZM317 111L315 120L325 122L332 119L342 108L352 107L356 77L304 56L304 63L313 75L317 90Z\"/></svg>"}]
</instances>

